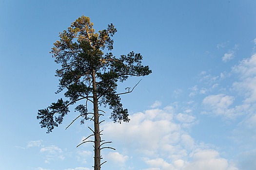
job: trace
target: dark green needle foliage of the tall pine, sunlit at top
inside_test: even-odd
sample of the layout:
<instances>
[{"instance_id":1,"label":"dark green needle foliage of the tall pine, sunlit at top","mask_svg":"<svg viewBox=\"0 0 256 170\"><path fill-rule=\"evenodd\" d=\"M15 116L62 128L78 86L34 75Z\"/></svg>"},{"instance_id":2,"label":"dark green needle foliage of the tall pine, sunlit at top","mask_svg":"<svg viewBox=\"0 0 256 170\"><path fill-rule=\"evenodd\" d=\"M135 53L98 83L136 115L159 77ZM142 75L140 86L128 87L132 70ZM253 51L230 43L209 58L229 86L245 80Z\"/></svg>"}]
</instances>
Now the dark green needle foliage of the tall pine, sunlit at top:
<instances>
[{"instance_id":1,"label":"dark green needle foliage of the tall pine, sunlit at top","mask_svg":"<svg viewBox=\"0 0 256 170\"><path fill-rule=\"evenodd\" d=\"M59 33L59 40L54 43L51 53L55 62L61 64L56 70L59 77L57 93L65 90L64 102L60 99L46 109L38 112L41 127L47 128L47 133L58 126L69 112L69 105L80 100L75 110L83 117L81 123L88 119L87 103L94 102L93 93L97 94L99 105L109 106L112 110L111 119L114 122L128 122L128 110L122 107L120 94L117 93L118 82L125 81L129 76L145 76L151 73L148 66L142 66L142 56L133 51L127 55L115 57L111 52L104 54L103 50L113 49L111 37L117 32L113 24L95 33L89 17L79 17L67 31ZM97 89L92 86L96 78ZM57 116L56 116L57 115Z\"/></svg>"}]
</instances>

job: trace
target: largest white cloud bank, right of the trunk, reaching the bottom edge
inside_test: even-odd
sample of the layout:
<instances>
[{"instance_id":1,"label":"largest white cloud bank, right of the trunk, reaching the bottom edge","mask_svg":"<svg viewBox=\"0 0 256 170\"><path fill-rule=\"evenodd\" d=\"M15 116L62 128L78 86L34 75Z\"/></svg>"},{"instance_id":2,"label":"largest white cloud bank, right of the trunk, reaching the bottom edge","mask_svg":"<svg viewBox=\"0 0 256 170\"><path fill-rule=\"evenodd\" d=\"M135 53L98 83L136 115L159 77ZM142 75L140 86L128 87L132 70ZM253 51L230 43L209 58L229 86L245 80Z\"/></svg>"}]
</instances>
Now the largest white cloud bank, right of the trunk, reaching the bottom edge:
<instances>
[{"instance_id":1,"label":"largest white cloud bank, right of the trunk, reaching the bottom edge","mask_svg":"<svg viewBox=\"0 0 256 170\"><path fill-rule=\"evenodd\" d=\"M148 166L143 170L228 170L232 166L227 159L209 146L197 144L187 133L188 127L184 124L197 122L192 112L193 109L186 108L183 113L177 113L177 106L167 106L133 114L129 123L105 122L102 124L104 134L114 143L121 143L127 151L125 156L110 153L110 157L124 163L132 152Z\"/></svg>"}]
</instances>

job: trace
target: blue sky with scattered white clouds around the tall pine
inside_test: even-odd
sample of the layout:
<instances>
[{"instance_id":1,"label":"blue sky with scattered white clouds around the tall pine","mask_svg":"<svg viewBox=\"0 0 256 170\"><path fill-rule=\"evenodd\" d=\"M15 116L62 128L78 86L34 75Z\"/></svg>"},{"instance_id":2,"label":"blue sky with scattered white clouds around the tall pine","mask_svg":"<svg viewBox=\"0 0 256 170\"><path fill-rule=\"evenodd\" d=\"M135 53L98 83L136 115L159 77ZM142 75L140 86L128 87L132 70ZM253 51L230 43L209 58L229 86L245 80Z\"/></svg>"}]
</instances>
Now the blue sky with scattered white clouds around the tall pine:
<instances>
[{"instance_id":1,"label":"blue sky with scattered white clouds around the tall pine","mask_svg":"<svg viewBox=\"0 0 256 170\"><path fill-rule=\"evenodd\" d=\"M37 111L56 102L49 51L84 15L113 23L116 56L140 52L153 73L122 96L102 170L255 170L255 0L0 0L0 170L92 170L90 134L70 112L46 134ZM123 91L139 79L119 86Z\"/></svg>"}]
</instances>

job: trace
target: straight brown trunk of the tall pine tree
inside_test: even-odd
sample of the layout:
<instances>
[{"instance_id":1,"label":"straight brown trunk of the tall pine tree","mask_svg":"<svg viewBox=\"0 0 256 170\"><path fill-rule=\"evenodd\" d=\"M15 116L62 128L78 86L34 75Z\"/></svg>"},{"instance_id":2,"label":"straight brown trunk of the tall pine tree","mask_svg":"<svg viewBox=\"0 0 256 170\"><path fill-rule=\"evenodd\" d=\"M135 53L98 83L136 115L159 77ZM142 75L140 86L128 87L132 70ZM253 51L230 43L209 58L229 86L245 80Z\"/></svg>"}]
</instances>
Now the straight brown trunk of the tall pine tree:
<instances>
[{"instance_id":1,"label":"straight brown trunk of the tall pine tree","mask_svg":"<svg viewBox=\"0 0 256 170\"><path fill-rule=\"evenodd\" d=\"M92 72L93 80L93 109L94 109L94 170L100 170L100 135L99 135L99 115L98 98L95 70Z\"/></svg>"}]
</instances>

